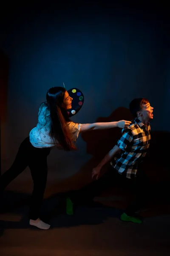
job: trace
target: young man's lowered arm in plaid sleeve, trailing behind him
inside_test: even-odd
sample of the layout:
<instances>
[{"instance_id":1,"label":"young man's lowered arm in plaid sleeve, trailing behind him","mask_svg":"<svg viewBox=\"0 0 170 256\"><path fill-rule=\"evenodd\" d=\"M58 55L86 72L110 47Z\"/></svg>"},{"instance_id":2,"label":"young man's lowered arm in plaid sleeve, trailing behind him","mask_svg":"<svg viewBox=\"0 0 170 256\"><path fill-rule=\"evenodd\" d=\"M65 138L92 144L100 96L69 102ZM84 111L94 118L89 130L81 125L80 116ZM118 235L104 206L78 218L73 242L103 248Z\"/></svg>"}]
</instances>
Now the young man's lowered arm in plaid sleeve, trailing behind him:
<instances>
[{"instance_id":1,"label":"young man's lowered arm in plaid sleeve, trailing behind him","mask_svg":"<svg viewBox=\"0 0 170 256\"><path fill-rule=\"evenodd\" d=\"M102 167L108 163L114 155L119 153L122 150L126 150L127 146L132 142L133 135L130 129L125 129L123 131L122 137L120 140L118 140L117 145L115 145L111 151L108 152L108 154L105 155L105 157L102 159L102 161L96 166L92 171L92 178L96 176L96 180L99 178L100 170Z\"/></svg>"}]
</instances>

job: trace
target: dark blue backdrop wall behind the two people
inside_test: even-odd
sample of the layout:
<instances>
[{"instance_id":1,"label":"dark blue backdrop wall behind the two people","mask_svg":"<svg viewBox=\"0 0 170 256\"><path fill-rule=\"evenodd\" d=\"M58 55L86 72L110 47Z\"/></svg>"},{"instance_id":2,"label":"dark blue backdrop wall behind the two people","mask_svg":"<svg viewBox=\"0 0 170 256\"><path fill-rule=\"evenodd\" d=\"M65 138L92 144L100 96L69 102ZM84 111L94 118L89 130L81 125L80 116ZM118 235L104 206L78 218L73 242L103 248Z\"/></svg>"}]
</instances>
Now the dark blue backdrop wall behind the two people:
<instances>
[{"instance_id":1,"label":"dark blue backdrop wall behind the two people","mask_svg":"<svg viewBox=\"0 0 170 256\"><path fill-rule=\"evenodd\" d=\"M13 11L6 7L1 17L0 48L10 59L7 126L12 157L36 125L47 89L63 82L85 96L75 122L95 122L116 108L128 108L135 97L146 97L154 107L153 130L170 131L167 13L142 3L85 2L13 6ZM85 157L81 138L78 146Z\"/></svg>"}]
</instances>

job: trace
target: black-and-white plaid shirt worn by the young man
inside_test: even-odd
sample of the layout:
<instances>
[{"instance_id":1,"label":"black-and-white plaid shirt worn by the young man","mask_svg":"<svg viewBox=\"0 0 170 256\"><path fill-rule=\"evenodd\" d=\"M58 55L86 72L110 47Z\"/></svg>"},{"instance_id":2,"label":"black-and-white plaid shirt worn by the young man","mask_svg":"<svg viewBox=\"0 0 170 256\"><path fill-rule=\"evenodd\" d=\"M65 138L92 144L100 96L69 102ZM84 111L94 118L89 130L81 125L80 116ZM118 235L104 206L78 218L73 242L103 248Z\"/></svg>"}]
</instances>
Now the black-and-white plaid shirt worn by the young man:
<instances>
[{"instance_id":1,"label":"black-and-white plaid shirt worn by the young man","mask_svg":"<svg viewBox=\"0 0 170 256\"><path fill-rule=\"evenodd\" d=\"M138 163L142 162L150 145L150 123L145 126L139 119L133 119L128 128L122 130L116 145L121 149L121 155L114 157L111 166L127 178L135 177Z\"/></svg>"}]
</instances>

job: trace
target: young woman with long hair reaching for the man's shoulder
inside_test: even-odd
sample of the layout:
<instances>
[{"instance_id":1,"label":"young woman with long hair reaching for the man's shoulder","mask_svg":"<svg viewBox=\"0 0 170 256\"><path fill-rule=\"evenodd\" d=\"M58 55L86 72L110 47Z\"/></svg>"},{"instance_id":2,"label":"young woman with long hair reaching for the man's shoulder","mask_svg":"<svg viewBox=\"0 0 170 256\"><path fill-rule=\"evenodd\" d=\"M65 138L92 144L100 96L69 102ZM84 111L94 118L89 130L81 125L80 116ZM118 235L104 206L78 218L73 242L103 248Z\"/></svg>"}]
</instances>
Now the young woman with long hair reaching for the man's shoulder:
<instances>
[{"instance_id":1,"label":"young woman with long hair reaching for the man's shoulder","mask_svg":"<svg viewBox=\"0 0 170 256\"><path fill-rule=\"evenodd\" d=\"M41 221L39 217L47 181L47 156L51 148L57 146L65 151L76 150L75 142L80 132L113 127L125 128L130 124L130 121L125 120L93 124L71 122L67 110L71 109L72 98L63 87L50 88L46 99L47 102L43 102L40 106L37 126L21 143L11 168L0 177L0 190L3 191L29 166L34 182L29 223L45 230L50 225Z\"/></svg>"}]
</instances>

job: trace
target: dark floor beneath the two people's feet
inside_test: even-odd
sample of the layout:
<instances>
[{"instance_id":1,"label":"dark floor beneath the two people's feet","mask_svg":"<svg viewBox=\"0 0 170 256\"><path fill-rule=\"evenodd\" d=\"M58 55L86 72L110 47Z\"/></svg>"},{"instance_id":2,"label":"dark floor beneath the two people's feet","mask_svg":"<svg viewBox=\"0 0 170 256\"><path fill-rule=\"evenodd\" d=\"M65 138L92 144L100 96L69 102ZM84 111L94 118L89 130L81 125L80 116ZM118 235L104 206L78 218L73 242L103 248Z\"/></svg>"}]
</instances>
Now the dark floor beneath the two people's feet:
<instances>
[{"instance_id":1,"label":"dark floor beneath the two people's feet","mask_svg":"<svg viewBox=\"0 0 170 256\"><path fill-rule=\"evenodd\" d=\"M161 201L143 210L142 224L119 220L124 201L111 192L98 198L110 207L81 206L68 216L59 210L56 184L49 177L43 209L51 229L39 230L28 224L32 182L22 175L8 186L1 204L1 210L8 208L0 214L0 256L170 255L170 208Z\"/></svg>"}]
</instances>

